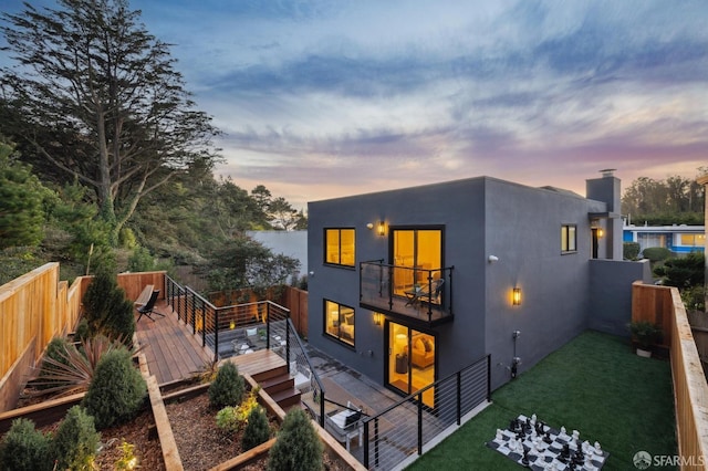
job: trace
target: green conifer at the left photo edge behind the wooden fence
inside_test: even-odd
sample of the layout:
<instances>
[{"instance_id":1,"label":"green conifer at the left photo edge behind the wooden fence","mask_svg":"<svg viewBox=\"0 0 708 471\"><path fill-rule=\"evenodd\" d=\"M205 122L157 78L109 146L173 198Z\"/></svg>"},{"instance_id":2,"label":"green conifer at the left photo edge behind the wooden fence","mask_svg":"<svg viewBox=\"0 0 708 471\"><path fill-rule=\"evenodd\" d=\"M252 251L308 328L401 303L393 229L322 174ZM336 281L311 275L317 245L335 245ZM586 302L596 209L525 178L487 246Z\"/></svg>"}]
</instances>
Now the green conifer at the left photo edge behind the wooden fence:
<instances>
[{"instance_id":1,"label":"green conifer at the left photo edge behind the wooden fence","mask_svg":"<svg viewBox=\"0 0 708 471\"><path fill-rule=\"evenodd\" d=\"M0 249L41 242L44 201L51 196L12 146L0 142Z\"/></svg>"}]
</instances>

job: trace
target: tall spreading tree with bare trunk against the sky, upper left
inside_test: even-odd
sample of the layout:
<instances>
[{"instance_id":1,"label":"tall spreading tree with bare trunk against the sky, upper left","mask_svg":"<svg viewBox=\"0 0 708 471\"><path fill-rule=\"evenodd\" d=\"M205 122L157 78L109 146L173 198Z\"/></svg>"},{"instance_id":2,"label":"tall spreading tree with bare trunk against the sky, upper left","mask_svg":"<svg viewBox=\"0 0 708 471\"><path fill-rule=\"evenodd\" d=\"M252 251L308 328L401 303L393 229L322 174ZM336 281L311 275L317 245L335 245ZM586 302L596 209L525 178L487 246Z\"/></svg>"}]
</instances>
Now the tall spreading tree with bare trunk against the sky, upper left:
<instances>
[{"instance_id":1,"label":"tall spreading tree with bare trunk against the sky, upper left","mask_svg":"<svg viewBox=\"0 0 708 471\"><path fill-rule=\"evenodd\" d=\"M217 130L127 0L58 2L2 14L20 65L2 69L2 123L34 159L95 191L116 243L145 195L195 161L212 165Z\"/></svg>"}]
</instances>

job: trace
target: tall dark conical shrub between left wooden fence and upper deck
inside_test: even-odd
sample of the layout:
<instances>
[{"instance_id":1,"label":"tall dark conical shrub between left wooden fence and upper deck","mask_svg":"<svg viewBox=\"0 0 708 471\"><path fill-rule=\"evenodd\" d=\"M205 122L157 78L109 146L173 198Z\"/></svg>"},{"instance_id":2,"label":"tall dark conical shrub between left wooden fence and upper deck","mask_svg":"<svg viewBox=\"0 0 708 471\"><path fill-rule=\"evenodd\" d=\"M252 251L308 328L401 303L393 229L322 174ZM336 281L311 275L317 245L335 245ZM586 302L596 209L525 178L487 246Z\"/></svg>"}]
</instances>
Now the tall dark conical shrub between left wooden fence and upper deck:
<instances>
[{"instance_id":1,"label":"tall dark conical shrub between left wooden fence and upper deck","mask_svg":"<svg viewBox=\"0 0 708 471\"><path fill-rule=\"evenodd\" d=\"M103 333L111 338L122 338L126 345L133 342L133 303L125 297L115 275L100 271L86 289L83 303L91 336Z\"/></svg>"}]
</instances>

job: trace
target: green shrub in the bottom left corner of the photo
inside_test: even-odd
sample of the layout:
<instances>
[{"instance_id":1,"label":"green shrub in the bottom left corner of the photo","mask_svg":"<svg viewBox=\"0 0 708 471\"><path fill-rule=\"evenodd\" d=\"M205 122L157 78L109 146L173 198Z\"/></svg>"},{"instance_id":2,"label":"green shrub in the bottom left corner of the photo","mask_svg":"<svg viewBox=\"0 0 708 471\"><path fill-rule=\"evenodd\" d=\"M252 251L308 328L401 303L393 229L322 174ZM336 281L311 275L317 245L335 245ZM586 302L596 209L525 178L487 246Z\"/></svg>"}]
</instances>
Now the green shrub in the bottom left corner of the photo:
<instances>
[{"instance_id":1,"label":"green shrub in the bottom left corner of the photo","mask_svg":"<svg viewBox=\"0 0 708 471\"><path fill-rule=\"evenodd\" d=\"M52 459L49 453L50 440L34 429L34 422L15 419L0 442L0 469L18 471L49 471Z\"/></svg>"}]
</instances>

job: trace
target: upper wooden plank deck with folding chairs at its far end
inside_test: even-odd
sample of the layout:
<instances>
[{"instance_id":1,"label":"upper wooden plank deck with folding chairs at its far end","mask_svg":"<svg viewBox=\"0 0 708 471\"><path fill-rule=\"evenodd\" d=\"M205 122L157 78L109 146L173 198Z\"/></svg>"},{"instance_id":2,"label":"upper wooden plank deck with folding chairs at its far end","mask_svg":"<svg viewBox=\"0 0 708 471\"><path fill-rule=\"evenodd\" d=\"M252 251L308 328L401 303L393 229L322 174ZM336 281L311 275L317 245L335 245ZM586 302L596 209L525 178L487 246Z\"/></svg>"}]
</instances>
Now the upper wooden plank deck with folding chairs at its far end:
<instances>
[{"instance_id":1,"label":"upper wooden plank deck with folding chairs at its far end","mask_svg":"<svg viewBox=\"0 0 708 471\"><path fill-rule=\"evenodd\" d=\"M143 316L137 323L137 342L147 359L147 367L158 385L185 379L210 364L211 354L205 350L187 326L177 320L164 300L156 310L165 317L155 322ZM137 318L137 312L135 317Z\"/></svg>"}]
</instances>

